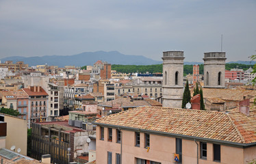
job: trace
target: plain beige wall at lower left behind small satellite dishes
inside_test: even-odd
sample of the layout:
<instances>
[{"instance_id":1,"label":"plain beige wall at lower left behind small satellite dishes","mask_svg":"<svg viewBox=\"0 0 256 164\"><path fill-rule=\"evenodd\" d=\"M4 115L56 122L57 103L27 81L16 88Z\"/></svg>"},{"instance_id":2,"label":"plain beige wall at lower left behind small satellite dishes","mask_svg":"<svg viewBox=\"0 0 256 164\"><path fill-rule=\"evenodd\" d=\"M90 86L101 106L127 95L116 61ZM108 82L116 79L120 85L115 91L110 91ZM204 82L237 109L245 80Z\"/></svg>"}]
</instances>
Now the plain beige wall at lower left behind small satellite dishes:
<instances>
[{"instance_id":1,"label":"plain beige wall at lower left behind small satellite dishes","mask_svg":"<svg viewBox=\"0 0 256 164\"><path fill-rule=\"evenodd\" d=\"M27 155L27 120L5 115L7 122L6 148L21 148L21 154Z\"/></svg>"}]
</instances>

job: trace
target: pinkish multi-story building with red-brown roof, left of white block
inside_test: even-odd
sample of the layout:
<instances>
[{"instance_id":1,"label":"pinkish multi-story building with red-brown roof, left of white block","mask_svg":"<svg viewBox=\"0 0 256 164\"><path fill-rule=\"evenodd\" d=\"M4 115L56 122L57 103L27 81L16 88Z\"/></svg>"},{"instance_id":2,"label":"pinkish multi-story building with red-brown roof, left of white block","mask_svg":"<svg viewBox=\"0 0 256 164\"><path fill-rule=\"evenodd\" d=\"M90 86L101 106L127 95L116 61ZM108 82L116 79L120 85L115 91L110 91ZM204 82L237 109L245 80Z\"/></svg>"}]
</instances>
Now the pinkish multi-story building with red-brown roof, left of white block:
<instances>
[{"instance_id":1,"label":"pinkish multi-story building with red-brown roof, left of white block","mask_svg":"<svg viewBox=\"0 0 256 164\"><path fill-rule=\"evenodd\" d=\"M48 94L40 86L29 86L28 88L22 89L27 96L29 96L28 102L28 120L29 127L30 122L36 122L40 120L47 120L49 103Z\"/></svg>"}]
</instances>

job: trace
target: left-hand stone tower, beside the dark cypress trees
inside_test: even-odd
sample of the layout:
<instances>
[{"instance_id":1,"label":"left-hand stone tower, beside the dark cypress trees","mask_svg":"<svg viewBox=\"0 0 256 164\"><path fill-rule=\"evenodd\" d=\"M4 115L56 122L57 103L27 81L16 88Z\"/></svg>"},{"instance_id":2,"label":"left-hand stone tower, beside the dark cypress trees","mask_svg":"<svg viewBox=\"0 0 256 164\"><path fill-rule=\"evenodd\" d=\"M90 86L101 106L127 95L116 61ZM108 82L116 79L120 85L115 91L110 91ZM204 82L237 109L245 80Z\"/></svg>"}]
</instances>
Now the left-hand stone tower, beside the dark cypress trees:
<instances>
[{"instance_id":1,"label":"left-hand stone tower, beside the dark cypress trees","mask_svg":"<svg viewBox=\"0 0 256 164\"><path fill-rule=\"evenodd\" d=\"M163 107L181 108L183 98L183 51L163 53Z\"/></svg>"}]
</instances>

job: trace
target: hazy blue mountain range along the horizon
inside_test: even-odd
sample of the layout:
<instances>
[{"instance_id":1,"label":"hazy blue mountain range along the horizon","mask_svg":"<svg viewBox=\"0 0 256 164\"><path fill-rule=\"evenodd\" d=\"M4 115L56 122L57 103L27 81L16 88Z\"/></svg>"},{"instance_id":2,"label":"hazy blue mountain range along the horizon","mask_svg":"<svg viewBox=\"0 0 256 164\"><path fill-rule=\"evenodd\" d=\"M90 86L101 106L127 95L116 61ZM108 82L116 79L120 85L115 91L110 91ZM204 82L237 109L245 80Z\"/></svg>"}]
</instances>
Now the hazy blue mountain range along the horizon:
<instances>
[{"instance_id":1,"label":"hazy blue mountain range along the horizon","mask_svg":"<svg viewBox=\"0 0 256 164\"><path fill-rule=\"evenodd\" d=\"M44 65L49 66L92 66L97 60L107 61L110 64L123 64L123 65L152 65L162 64L162 61L149 59L142 55L124 55L118 51L96 51L79 53L77 55L47 55L42 57L21 57L12 56L5 57L1 61L24 61L29 66ZM231 61L229 63L238 64L256 64L255 61ZM203 62L184 62L185 65L203 64Z\"/></svg>"}]
</instances>

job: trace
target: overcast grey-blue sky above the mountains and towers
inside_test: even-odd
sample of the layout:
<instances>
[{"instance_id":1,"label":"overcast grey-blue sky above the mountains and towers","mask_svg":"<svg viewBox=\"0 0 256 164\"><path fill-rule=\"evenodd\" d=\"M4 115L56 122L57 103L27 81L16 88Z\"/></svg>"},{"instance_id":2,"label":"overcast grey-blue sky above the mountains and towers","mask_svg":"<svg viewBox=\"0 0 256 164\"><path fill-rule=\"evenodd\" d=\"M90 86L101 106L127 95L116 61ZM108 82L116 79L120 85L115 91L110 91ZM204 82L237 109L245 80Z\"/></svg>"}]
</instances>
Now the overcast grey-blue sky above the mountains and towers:
<instances>
[{"instance_id":1,"label":"overcast grey-blue sky above the mountains and towers","mask_svg":"<svg viewBox=\"0 0 256 164\"><path fill-rule=\"evenodd\" d=\"M119 51L160 61L179 50L203 61L221 35L227 61L256 54L256 1L0 0L0 59Z\"/></svg>"}]
</instances>

